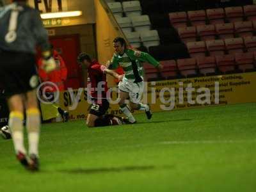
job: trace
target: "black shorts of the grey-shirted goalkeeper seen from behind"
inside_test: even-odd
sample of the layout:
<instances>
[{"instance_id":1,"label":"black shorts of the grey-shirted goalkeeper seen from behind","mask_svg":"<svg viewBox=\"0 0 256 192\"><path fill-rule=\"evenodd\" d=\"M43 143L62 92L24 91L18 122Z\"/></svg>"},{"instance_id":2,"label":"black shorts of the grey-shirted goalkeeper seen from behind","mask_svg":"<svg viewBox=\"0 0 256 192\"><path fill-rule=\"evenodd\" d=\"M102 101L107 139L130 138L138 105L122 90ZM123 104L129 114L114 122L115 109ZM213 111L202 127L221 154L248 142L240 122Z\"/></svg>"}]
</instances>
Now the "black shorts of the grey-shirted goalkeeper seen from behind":
<instances>
[{"instance_id":1,"label":"black shorts of the grey-shirted goalkeeper seen from behind","mask_svg":"<svg viewBox=\"0 0 256 192\"><path fill-rule=\"evenodd\" d=\"M37 86L35 55L0 50L0 88L6 97L29 92Z\"/></svg>"}]
</instances>

